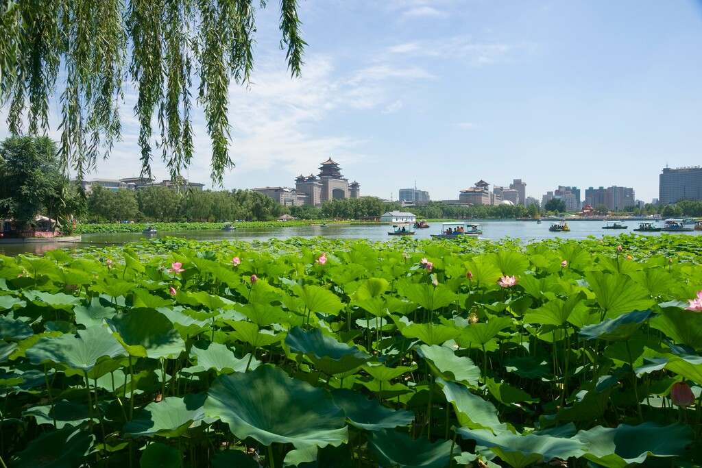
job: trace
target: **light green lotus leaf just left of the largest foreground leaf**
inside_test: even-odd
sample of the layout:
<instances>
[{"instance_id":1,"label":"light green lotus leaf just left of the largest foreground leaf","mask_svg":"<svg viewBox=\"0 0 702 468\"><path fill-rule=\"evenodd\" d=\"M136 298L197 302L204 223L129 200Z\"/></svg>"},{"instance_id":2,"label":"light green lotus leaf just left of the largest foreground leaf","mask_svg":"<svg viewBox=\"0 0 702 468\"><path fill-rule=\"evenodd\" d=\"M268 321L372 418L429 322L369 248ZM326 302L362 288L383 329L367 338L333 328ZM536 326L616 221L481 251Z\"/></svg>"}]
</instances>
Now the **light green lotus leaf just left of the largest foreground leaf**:
<instances>
[{"instance_id":1,"label":"light green lotus leaf just left of the largest foreground leaf","mask_svg":"<svg viewBox=\"0 0 702 468\"><path fill-rule=\"evenodd\" d=\"M189 427L199 426L205 418L202 405L206 394L168 396L161 401L149 403L122 430L132 437L164 436L178 437Z\"/></svg>"}]
</instances>

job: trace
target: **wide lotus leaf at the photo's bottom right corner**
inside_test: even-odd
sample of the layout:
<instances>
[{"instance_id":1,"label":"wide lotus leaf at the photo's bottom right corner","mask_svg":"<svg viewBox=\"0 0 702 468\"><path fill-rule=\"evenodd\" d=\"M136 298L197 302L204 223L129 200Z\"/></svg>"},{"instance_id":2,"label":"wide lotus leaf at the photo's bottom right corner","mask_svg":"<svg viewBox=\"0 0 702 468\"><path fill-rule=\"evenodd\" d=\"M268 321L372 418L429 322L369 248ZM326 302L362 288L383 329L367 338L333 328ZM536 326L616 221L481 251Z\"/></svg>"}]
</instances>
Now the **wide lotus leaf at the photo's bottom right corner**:
<instances>
[{"instance_id":1,"label":"wide lotus leaf at the photo's bottom right corner","mask_svg":"<svg viewBox=\"0 0 702 468\"><path fill-rule=\"evenodd\" d=\"M602 467L625 468L641 464L649 455L684 455L685 446L694 441L692 428L683 424L659 426L644 422L637 426L619 424L615 429L597 426L580 431L574 439L587 443L583 455Z\"/></svg>"}]
</instances>

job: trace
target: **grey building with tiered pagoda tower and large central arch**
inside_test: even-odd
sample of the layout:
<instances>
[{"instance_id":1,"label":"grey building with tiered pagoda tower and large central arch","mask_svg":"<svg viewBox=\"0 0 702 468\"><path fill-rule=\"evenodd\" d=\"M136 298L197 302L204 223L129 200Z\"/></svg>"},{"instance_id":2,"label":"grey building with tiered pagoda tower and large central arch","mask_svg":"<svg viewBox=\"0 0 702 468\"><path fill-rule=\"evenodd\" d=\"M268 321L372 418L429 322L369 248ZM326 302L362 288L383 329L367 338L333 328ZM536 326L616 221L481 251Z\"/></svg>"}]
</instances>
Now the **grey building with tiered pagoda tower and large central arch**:
<instances>
[{"instance_id":1,"label":"grey building with tiered pagoda tower and large central arch","mask_svg":"<svg viewBox=\"0 0 702 468\"><path fill-rule=\"evenodd\" d=\"M295 180L296 192L304 196L304 204L322 206L329 200L358 199L361 185L341 175L338 163L327 159L319 166L319 175L298 175Z\"/></svg>"}]
</instances>

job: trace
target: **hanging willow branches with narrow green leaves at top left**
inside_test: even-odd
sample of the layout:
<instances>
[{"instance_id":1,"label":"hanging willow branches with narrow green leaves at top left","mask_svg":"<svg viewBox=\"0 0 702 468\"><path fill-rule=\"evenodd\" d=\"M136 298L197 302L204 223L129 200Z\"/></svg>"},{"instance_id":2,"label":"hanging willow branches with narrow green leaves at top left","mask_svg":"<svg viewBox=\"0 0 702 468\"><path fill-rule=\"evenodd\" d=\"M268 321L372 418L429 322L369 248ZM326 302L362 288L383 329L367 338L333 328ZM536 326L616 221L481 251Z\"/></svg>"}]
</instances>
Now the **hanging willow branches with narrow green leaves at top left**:
<instances>
[{"instance_id":1,"label":"hanging willow branches with narrow green leaves at top left","mask_svg":"<svg viewBox=\"0 0 702 468\"><path fill-rule=\"evenodd\" d=\"M11 133L46 133L57 100L60 159L82 178L119 139L124 89L133 86L142 174L151 175L155 148L176 179L192 161L197 93L212 143L212 179L221 183L234 166L229 86L246 83L253 67L253 3L0 0L0 105ZM297 0L280 0L281 47L293 76L303 63L299 26Z\"/></svg>"}]
</instances>

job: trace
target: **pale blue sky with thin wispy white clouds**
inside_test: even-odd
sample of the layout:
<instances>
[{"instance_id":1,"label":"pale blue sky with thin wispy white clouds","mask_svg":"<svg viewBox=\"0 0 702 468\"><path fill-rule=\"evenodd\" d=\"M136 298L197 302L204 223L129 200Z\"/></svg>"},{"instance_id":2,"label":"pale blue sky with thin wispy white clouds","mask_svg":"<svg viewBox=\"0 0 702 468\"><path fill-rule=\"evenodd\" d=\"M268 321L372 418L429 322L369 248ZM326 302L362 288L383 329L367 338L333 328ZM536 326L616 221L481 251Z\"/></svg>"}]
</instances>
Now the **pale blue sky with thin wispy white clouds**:
<instances>
[{"instance_id":1,"label":"pale blue sky with thin wispy white clouds","mask_svg":"<svg viewBox=\"0 0 702 468\"><path fill-rule=\"evenodd\" d=\"M539 200L618 185L650 202L665 166L702 164L702 0L303 0L298 79L277 7L257 12L251 83L230 87L236 167L213 189L294 187L331 157L383 199L520 178ZM88 178L139 175L133 102ZM212 187L201 112L194 124L185 176ZM168 175L158 159L153 173Z\"/></svg>"}]
</instances>

